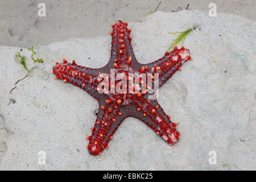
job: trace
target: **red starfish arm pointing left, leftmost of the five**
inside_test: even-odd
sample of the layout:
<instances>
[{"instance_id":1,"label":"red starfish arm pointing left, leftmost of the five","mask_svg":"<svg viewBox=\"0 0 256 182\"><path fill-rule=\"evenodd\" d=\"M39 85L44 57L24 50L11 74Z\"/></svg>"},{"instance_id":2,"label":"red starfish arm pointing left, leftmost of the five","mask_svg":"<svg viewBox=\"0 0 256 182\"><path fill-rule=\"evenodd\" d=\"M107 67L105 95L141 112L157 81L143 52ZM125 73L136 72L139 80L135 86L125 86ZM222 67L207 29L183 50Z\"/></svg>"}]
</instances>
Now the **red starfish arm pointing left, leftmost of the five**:
<instances>
[{"instance_id":1,"label":"red starfish arm pointing left, leftmost of the five","mask_svg":"<svg viewBox=\"0 0 256 182\"><path fill-rule=\"evenodd\" d=\"M92 69L81 67L75 61L68 63L67 60L63 59L63 63L56 62L52 73L56 75L56 79L61 79L64 82L79 86L93 97L100 97L101 94L97 91L99 82L97 77L100 70L101 68Z\"/></svg>"}]
</instances>

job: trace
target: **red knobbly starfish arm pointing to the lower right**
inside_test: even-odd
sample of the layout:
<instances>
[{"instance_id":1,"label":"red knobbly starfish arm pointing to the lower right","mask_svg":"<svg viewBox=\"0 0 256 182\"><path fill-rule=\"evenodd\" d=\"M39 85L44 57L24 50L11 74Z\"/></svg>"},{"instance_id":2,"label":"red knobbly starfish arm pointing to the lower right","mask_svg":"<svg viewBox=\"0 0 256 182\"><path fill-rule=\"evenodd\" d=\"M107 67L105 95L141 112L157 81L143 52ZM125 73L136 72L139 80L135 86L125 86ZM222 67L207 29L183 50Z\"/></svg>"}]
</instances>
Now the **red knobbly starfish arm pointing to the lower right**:
<instances>
[{"instance_id":1,"label":"red knobbly starfish arm pointing to the lower right","mask_svg":"<svg viewBox=\"0 0 256 182\"><path fill-rule=\"evenodd\" d=\"M163 140L170 145L179 141L180 133L175 127L179 123L172 123L170 116L164 113L162 107L156 100L146 100L143 96L134 102L139 111L133 117L141 119L146 125L151 127Z\"/></svg>"}]
</instances>

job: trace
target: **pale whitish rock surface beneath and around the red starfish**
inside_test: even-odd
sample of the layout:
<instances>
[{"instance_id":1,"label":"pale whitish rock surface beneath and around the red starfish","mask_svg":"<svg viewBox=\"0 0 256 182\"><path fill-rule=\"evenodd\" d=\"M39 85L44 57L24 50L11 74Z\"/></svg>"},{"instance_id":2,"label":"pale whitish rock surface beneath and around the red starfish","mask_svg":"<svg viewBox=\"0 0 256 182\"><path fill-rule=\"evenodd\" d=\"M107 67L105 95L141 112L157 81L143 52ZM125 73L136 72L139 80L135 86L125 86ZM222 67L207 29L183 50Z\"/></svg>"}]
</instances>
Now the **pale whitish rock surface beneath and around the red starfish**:
<instances>
[{"instance_id":1,"label":"pale whitish rock surface beneath and around the red starfish","mask_svg":"<svg viewBox=\"0 0 256 182\"><path fill-rule=\"evenodd\" d=\"M180 123L181 137L170 147L141 121L127 118L101 156L85 148L97 101L51 72L63 57L102 67L110 35L35 47L42 64L32 63L31 51L23 48L31 69L26 78L15 59L20 48L0 47L0 169L255 169L255 26L240 16L209 18L197 10L156 12L129 23L141 63L163 56L175 38L168 32L195 27L184 44L193 61L159 90L159 104ZM45 165L38 164L39 151L46 152ZM216 152L215 165L209 164L210 151Z\"/></svg>"}]
</instances>

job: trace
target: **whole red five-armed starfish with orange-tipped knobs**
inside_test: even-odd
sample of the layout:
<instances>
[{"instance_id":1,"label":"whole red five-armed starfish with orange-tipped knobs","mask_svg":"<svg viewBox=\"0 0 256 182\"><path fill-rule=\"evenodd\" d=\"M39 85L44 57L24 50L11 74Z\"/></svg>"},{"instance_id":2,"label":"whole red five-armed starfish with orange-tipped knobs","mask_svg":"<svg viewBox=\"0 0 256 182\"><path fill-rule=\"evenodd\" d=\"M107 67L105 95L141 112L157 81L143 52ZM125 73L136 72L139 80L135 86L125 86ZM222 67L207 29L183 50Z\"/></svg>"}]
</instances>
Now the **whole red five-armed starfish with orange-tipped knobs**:
<instances>
[{"instance_id":1,"label":"whole red five-armed starfish with orange-tipped knobs","mask_svg":"<svg viewBox=\"0 0 256 182\"><path fill-rule=\"evenodd\" d=\"M127 22L123 23L118 20L112 24L112 49L110 60L105 67L92 69L77 65L75 60L68 63L64 58L63 63L57 63L53 66L53 74L56 79L69 82L73 85L84 89L91 96L98 100L99 109L94 127L91 128L92 135L86 137L89 139L87 146L90 154L99 155L105 148L109 148L108 143L113 138L113 134L127 117L140 119L152 130L155 131L163 140L170 145L178 142L180 133L175 127L179 123L172 123L170 115L164 113L162 107L155 99L149 100L149 86L146 85L146 92L141 93L101 93L102 88L99 84L106 76L111 76L110 69L114 69L114 77L117 73L123 73L127 76L127 82L130 81L129 73L147 73L158 74L158 78L151 76L151 82L158 79L159 88L162 86L176 71L180 71L181 65L187 60L192 60L189 49L183 46L178 49L174 47L174 51L164 53L164 56L152 63L141 64L137 61L133 48L131 46L131 29L127 28ZM106 73L105 75L103 73ZM142 80L139 80L143 84ZM108 89L113 89L118 85L118 81L111 82L110 85L104 85ZM134 87L138 85L133 84ZM127 89L125 86L121 88ZM139 90L141 88L139 87Z\"/></svg>"}]
</instances>

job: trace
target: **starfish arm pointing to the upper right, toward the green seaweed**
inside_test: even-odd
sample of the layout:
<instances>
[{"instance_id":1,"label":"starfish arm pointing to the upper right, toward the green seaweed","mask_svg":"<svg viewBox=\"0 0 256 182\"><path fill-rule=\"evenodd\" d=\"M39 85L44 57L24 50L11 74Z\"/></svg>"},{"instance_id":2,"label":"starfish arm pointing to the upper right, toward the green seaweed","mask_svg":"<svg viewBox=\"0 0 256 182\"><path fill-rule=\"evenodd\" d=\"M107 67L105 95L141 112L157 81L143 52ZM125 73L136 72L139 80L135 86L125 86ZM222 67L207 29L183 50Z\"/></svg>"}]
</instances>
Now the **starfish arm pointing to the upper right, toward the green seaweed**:
<instances>
[{"instance_id":1,"label":"starfish arm pointing to the upper right, toward the green seaweed","mask_svg":"<svg viewBox=\"0 0 256 182\"><path fill-rule=\"evenodd\" d=\"M177 49L175 46L174 51L166 52L165 55L149 64L143 64L142 67L148 73L159 74L159 88L172 76L177 70L181 70L187 60L192 60L190 57L189 49L181 47Z\"/></svg>"}]
</instances>

